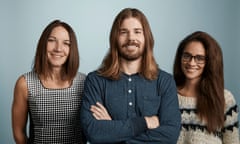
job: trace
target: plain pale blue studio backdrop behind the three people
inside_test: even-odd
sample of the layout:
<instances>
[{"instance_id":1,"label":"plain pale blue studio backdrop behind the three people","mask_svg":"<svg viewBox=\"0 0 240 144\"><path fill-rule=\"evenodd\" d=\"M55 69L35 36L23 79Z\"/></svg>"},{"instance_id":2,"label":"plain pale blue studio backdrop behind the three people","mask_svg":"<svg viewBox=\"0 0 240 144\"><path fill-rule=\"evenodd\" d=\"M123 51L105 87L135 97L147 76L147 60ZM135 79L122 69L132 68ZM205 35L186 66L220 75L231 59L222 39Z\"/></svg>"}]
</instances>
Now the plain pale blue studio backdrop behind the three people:
<instances>
[{"instance_id":1,"label":"plain pale blue studio backdrop behind the three people","mask_svg":"<svg viewBox=\"0 0 240 144\"><path fill-rule=\"evenodd\" d=\"M14 85L21 74L31 70L38 39L47 24L60 19L73 27L80 52L79 71L87 74L100 65L109 47L112 22L126 7L138 8L147 16L156 60L170 73L180 40L196 30L211 34L223 50L225 88L240 104L239 0L0 0L0 143L14 143Z\"/></svg>"}]
</instances>

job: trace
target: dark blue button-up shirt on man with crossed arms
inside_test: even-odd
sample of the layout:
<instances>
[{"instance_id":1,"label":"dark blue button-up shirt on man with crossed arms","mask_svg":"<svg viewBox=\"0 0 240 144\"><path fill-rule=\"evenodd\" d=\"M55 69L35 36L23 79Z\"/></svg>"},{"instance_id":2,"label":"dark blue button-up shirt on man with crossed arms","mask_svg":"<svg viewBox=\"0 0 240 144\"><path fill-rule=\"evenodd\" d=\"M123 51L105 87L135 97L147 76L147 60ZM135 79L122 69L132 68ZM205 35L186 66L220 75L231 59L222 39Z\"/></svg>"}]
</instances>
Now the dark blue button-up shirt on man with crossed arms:
<instances>
[{"instance_id":1,"label":"dark blue button-up shirt on man with crossed arms","mask_svg":"<svg viewBox=\"0 0 240 144\"><path fill-rule=\"evenodd\" d=\"M104 105L112 120L92 116L89 109L96 102ZM153 115L160 126L150 130L144 116ZM173 77L159 70L156 80L140 74L111 80L91 72L85 80L81 121L91 143L176 144L181 116Z\"/></svg>"}]
</instances>

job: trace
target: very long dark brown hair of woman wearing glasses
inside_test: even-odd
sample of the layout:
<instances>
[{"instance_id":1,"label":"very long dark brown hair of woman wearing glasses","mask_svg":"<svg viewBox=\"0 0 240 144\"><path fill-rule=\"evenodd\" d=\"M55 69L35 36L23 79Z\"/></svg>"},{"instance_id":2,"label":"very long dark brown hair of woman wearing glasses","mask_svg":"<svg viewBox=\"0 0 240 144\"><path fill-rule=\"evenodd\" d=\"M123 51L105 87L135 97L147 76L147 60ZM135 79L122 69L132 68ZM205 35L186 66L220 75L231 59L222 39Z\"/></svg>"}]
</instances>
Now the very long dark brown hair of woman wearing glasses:
<instances>
[{"instance_id":1,"label":"very long dark brown hair of woman wearing glasses","mask_svg":"<svg viewBox=\"0 0 240 144\"><path fill-rule=\"evenodd\" d=\"M183 87L186 77L181 69L181 57L186 46L193 41L201 42L206 51L206 64L199 81L197 113L207 122L207 130L214 132L224 124L224 76L223 56L217 41L206 32L197 31L183 39L174 61L174 79L177 87Z\"/></svg>"}]
</instances>

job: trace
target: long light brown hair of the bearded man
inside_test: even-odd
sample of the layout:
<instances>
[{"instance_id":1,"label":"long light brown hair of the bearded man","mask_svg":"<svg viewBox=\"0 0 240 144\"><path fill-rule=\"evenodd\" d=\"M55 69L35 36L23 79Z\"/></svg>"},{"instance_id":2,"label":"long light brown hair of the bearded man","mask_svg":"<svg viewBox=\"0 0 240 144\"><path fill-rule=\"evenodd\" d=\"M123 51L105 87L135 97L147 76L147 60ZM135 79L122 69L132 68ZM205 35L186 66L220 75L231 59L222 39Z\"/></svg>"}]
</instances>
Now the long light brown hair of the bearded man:
<instances>
[{"instance_id":1,"label":"long light brown hair of the bearded man","mask_svg":"<svg viewBox=\"0 0 240 144\"><path fill-rule=\"evenodd\" d=\"M104 77L115 80L119 79L121 73L120 56L118 52L119 30L122 22L130 17L134 17L141 22L145 37L145 48L140 74L149 80L156 79L158 73L158 65L153 57L153 35L145 15L138 9L134 8L123 9L115 18L110 32L110 49L105 58L103 59L103 62L98 69L98 72Z\"/></svg>"}]
</instances>

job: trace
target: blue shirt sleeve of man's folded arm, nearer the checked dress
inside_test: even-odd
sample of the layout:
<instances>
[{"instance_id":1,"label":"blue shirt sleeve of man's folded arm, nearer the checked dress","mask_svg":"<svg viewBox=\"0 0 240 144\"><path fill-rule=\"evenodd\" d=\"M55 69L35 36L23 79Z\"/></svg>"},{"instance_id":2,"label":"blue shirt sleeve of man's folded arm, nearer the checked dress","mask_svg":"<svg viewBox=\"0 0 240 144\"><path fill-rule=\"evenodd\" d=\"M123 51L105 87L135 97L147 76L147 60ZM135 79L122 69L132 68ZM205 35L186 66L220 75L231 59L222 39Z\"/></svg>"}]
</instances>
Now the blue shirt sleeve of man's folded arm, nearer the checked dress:
<instances>
[{"instance_id":1,"label":"blue shirt sleeve of man's folded arm, nearer the checked dress","mask_svg":"<svg viewBox=\"0 0 240 144\"><path fill-rule=\"evenodd\" d=\"M126 120L96 120L92 116L90 106L96 102L103 104L101 93L103 84L96 75L87 76L84 84L84 96L81 108L83 131L91 143L123 142L143 133L147 129L144 117Z\"/></svg>"}]
</instances>

